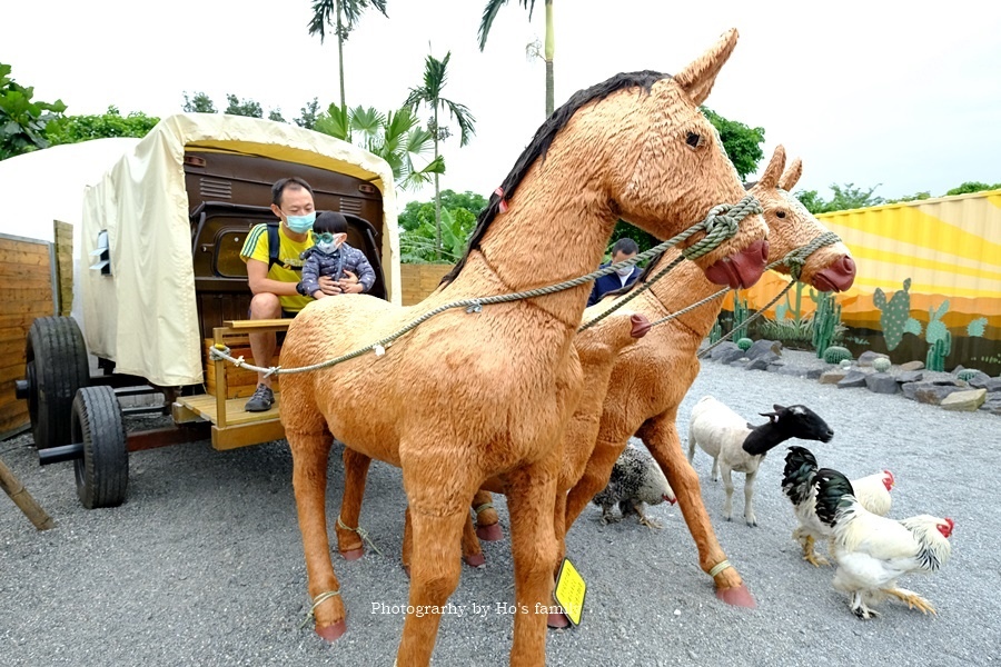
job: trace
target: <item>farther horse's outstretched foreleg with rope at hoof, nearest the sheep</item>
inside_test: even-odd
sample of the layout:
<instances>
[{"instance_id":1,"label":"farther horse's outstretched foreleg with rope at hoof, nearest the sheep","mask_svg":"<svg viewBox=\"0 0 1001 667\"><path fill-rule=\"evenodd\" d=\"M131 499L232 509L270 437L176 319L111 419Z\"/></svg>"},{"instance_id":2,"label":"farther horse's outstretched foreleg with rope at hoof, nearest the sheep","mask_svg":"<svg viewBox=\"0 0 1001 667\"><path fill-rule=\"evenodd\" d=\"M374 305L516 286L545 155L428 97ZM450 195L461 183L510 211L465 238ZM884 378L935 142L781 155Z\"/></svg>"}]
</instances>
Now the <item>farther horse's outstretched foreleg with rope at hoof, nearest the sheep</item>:
<instances>
[{"instance_id":1,"label":"farther horse's outstretched foreleg with rope at hoof, nearest the sheep","mask_svg":"<svg viewBox=\"0 0 1001 667\"><path fill-rule=\"evenodd\" d=\"M726 554L716 540L708 512L702 502L698 475L685 460L682 451L675 427L675 410L662 412L647 420L638 435L677 496L677 505L681 507L685 524L688 525L688 532L692 534L698 548L698 565L713 578L716 597L729 605L755 607L754 598L744 586L736 568L730 565Z\"/></svg>"}]
</instances>

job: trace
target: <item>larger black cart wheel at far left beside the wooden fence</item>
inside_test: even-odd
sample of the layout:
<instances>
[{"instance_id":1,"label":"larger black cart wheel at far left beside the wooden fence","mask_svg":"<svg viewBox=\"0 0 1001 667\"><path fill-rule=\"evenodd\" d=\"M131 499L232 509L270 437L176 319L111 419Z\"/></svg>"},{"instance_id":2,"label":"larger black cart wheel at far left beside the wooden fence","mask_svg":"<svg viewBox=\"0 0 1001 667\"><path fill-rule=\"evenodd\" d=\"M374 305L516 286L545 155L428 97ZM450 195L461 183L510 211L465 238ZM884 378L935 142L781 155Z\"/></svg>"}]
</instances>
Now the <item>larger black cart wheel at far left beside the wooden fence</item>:
<instances>
[{"instance_id":1,"label":"larger black cart wheel at far left beside the wooden fence","mask_svg":"<svg viewBox=\"0 0 1001 667\"><path fill-rule=\"evenodd\" d=\"M76 320L40 317L28 331L24 376L34 446L69 445L70 411L77 389L90 382L87 346Z\"/></svg>"}]
</instances>

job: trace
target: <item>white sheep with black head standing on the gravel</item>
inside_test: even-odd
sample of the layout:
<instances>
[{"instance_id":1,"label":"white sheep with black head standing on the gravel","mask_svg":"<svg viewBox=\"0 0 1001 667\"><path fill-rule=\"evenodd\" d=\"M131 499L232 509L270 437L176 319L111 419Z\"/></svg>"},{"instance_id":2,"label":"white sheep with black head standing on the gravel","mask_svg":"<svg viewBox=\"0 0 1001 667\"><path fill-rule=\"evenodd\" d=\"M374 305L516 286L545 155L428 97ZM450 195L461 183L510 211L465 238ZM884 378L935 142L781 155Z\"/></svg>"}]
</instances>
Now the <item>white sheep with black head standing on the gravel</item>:
<instances>
[{"instance_id":1,"label":"white sheep with black head standing on the gravel","mask_svg":"<svg viewBox=\"0 0 1001 667\"><path fill-rule=\"evenodd\" d=\"M757 526L752 505L754 478L769 450L790 438L827 442L834 437L831 427L805 406L785 408L775 405L773 408L774 412L761 414L762 417L767 417L769 421L756 427L712 396L704 396L692 408L692 418L688 421L688 462L691 464L695 457L697 445L713 457L713 481L718 479L717 470L722 469L723 485L726 489L723 516L727 521L733 515L731 471L744 472L746 476L744 519L749 526Z\"/></svg>"}]
</instances>

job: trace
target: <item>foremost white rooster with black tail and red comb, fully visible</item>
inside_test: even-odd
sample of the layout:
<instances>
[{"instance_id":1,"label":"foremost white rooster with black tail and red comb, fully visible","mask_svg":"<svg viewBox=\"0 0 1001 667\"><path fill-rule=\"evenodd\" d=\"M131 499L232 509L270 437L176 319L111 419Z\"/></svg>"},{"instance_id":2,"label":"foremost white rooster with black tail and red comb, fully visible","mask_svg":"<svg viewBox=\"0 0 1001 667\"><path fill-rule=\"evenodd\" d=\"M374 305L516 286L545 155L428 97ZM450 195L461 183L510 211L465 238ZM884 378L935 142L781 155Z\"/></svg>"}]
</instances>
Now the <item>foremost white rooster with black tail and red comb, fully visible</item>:
<instances>
[{"instance_id":1,"label":"foremost white rooster with black tail and red comb, fully visible","mask_svg":"<svg viewBox=\"0 0 1001 667\"><path fill-rule=\"evenodd\" d=\"M911 573L934 573L945 565L955 522L929 515L886 519L862 507L852 482L841 472L822 468L816 479L816 516L834 534L834 588L849 594L852 613L864 619L878 616L869 605L893 596L909 608L935 614L916 593L898 588L896 579Z\"/></svg>"}]
</instances>

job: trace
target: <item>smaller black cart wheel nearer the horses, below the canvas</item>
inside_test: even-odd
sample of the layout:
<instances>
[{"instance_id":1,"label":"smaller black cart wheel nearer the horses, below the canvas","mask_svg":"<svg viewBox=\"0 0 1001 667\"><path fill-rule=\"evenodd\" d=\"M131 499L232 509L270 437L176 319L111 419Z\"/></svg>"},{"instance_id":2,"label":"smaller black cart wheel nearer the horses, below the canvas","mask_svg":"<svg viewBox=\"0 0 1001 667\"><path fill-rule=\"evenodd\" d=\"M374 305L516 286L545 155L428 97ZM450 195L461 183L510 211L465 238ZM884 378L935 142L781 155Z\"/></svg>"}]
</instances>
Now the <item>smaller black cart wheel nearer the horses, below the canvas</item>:
<instances>
[{"instance_id":1,"label":"smaller black cart wheel nearer the horses, below the canvas","mask_svg":"<svg viewBox=\"0 0 1001 667\"><path fill-rule=\"evenodd\" d=\"M87 509L116 507L129 485L129 450L118 398L110 387L82 387L72 409L72 439L83 444L73 462L77 495Z\"/></svg>"}]
</instances>

